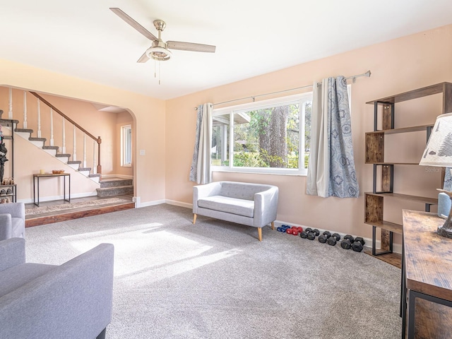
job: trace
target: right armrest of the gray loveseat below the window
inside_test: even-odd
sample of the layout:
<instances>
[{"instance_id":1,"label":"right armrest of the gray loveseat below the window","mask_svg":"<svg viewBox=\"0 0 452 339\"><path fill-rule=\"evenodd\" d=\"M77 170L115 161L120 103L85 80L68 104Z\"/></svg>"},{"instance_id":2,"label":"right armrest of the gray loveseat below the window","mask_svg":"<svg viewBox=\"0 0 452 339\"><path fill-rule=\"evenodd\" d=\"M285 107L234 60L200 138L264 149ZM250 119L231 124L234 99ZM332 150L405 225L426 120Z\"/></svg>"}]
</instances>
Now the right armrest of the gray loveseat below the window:
<instances>
[{"instance_id":1,"label":"right armrest of the gray loveseat below the window","mask_svg":"<svg viewBox=\"0 0 452 339\"><path fill-rule=\"evenodd\" d=\"M263 227L276 220L278 210L278 187L273 186L266 191L254 194L255 227Z\"/></svg>"}]
</instances>

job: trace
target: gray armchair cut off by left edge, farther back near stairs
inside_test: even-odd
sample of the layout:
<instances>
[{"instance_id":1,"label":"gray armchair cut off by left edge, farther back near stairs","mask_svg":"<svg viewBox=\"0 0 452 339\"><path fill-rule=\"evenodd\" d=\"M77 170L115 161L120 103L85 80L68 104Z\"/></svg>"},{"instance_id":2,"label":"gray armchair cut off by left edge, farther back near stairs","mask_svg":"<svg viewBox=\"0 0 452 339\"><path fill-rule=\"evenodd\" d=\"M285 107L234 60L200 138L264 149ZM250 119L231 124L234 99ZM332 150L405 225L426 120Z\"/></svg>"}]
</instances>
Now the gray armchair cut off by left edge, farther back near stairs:
<instances>
[{"instance_id":1,"label":"gray armchair cut off by left edge, farther back near stairs","mask_svg":"<svg viewBox=\"0 0 452 339\"><path fill-rule=\"evenodd\" d=\"M0 203L0 240L25 237L25 204Z\"/></svg>"}]
</instances>

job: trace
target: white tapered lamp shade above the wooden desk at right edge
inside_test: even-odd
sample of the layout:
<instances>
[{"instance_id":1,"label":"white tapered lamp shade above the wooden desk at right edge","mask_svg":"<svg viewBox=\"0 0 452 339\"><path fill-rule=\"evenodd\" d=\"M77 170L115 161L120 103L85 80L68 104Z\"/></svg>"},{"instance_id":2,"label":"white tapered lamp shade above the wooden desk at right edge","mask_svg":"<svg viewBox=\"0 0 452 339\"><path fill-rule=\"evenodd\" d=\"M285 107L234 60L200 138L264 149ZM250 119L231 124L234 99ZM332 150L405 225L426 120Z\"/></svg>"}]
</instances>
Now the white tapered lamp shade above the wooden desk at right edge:
<instances>
[{"instance_id":1,"label":"white tapered lamp shade above the wooden desk at right edge","mask_svg":"<svg viewBox=\"0 0 452 339\"><path fill-rule=\"evenodd\" d=\"M436 118L419 165L452 167L452 113Z\"/></svg>"}]
</instances>

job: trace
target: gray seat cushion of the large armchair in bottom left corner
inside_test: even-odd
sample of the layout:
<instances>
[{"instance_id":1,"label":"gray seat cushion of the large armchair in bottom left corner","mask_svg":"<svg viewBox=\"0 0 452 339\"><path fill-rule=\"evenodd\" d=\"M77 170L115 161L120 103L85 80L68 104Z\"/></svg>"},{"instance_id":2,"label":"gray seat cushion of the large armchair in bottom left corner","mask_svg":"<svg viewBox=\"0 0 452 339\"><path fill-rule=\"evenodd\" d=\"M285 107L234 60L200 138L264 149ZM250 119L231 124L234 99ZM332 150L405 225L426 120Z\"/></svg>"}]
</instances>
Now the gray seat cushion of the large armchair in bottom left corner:
<instances>
[{"instance_id":1,"label":"gray seat cushion of the large armchair in bottom left corner","mask_svg":"<svg viewBox=\"0 0 452 339\"><path fill-rule=\"evenodd\" d=\"M42 263L23 263L3 270L0 274L0 297L44 275L55 267L57 266Z\"/></svg>"}]
</instances>

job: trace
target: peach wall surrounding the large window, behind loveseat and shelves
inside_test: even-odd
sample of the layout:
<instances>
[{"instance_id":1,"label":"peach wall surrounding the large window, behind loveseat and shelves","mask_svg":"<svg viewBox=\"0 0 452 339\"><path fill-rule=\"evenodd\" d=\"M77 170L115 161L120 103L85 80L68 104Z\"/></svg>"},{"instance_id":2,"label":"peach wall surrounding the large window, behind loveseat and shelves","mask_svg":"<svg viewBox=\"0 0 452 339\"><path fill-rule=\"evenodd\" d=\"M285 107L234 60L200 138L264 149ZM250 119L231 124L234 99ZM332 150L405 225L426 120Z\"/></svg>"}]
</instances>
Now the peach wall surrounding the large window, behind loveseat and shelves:
<instances>
[{"instance_id":1,"label":"peach wall surrounding the large window, behind loveseat and shelves","mask_svg":"<svg viewBox=\"0 0 452 339\"><path fill-rule=\"evenodd\" d=\"M194 183L189 182L189 169L196 126L194 107L203 102L223 102L297 88L328 76L352 76L370 69L371 78L357 78L356 83L352 84L351 95L355 165L361 192L359 198L307 196L304 193L306 177L217 172L214 173L213 179L275 184L280 188L278 220L371 237L371 226L363 222L364 192L372 189L372 165L364 165L364 133L373 130L373 106L366 105L366 102L434 83L452 81L451 41L452 25L448 25L168 100L166 103L165 194L167 200L179 201L187 205L191 203ZM405 105L405 107L396 108L398 114L396 127L413 126L418 121L424 120L427 124L433 123L436 115L440 113L439 99L427 100L432 102L428 105L421 102L415 107ZM242 102L237 102L239 103ZM424 142L425 136L418 138L422 138ZM397 150L397 142L393 145L398 155L407 151L405 148ZM420 157L420 154L422 150L417 157ZM422 167L408 169L408 174L405 174L404 170L403 175L401 173L399 175L397 171L396 168L396 175L398 175L396 180L399 180L396 189L404 191L403 193L405 191L410 193L414 187L414 190L420 190L427 196L437 196L435 191L439 186L437 173L429 172ZM396 210L390 211L385 218L393 222L401 222L402 207L424 210L423 204L404 203L403 206L397 207L398 204L398 201L391 200L389 207L396 206Z\"/></svg>"}]
</instances>

